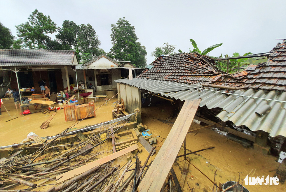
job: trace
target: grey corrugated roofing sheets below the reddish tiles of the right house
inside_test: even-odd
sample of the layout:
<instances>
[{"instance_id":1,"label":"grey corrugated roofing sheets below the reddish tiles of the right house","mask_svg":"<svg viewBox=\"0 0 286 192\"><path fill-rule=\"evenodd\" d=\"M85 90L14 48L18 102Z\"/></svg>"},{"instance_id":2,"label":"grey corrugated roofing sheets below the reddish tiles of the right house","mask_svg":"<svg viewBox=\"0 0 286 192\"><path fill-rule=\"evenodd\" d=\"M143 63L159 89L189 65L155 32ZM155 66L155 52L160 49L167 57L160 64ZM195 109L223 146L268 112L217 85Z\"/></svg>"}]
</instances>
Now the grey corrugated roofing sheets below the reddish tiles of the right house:
<instances>
[{"instance_id":1,"label":"grey corrugated roofing sheets below the reddish tiles of the right house","mask_svg":"<svg viewBox=\"0 0 286 192\"><path fill-rule=\"evenodd\" d=\"M222 121L231 121L236 126L244 125L252 131L266 131L271 137L277 135L286 137L286 103L229 95L227 93L218 93L203 89L190 89L182 85L190 85L198 88L202 86L179 82L154 81L141 78L133 78L133 80L121 79L116 80L116 82L129 84L181 101L186 99L200 99L200 107L206 106L208 109L221 108L222 111L216 117ZM219 90L217 88L206 87L205 89ZM255 90L250 88L229 92L245 96L286 101L286 92L277 90Z\"/></svg>"}]
</instances>

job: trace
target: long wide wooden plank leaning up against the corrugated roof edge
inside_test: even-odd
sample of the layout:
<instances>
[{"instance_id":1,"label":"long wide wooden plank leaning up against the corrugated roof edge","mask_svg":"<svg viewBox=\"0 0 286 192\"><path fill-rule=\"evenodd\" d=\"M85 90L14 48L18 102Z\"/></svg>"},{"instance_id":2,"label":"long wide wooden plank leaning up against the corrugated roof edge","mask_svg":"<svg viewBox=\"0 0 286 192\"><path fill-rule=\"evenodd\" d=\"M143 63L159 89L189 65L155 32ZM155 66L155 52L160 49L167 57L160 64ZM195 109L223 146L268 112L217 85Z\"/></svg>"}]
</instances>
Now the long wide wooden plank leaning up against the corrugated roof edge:
<instances>
[{"instance_id":1,"label":"long wide wooden plank leaning up against the corrugated roof edge","mask_svg":"<svg viewBox=\"0 0 286 192\"><path fill-rule=\"evenodd\" d=\"M200 100L185 101L168 137L140 182L137 191L160 191L184 142L199 104Z\"/></svg>"}]
</instances>

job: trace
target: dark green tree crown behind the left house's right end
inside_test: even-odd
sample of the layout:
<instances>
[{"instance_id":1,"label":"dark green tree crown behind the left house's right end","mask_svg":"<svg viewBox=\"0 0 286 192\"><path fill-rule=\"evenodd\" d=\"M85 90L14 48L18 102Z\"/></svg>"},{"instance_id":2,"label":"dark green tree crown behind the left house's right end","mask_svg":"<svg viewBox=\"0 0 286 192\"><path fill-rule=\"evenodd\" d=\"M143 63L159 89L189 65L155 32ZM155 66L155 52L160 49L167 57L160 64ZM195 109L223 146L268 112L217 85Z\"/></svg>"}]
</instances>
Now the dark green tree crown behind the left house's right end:
<instances>
[{"instance_id":1,"label":"dark green tree crown behind the left house's right end","mask_svg":"<svg viewBox=\"0 0 286 192\"><path fill-rule=\"evenodd\" d=\"M76 35L79 32L79 26L73 21L65 20L62 23L62 28L59 30L59 34L56 38L61 42L62 45L76 46Z\"/></svg>"}]
</instances>

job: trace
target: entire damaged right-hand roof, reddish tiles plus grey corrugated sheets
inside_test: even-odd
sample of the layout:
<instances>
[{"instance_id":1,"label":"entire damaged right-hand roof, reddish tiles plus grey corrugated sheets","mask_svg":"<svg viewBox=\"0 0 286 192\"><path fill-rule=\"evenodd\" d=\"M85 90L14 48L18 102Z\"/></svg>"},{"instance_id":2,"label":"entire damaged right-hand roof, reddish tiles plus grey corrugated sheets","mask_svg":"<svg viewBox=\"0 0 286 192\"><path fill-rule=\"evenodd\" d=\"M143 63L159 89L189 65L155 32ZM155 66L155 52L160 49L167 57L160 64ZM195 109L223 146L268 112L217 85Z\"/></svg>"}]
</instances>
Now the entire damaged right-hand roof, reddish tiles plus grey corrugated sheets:
<instances>
[{"instance_id":1,"label":"entire damaged right-hand roof, reddish tiles plus grey corrugated sheets","mask_svg":"<svg viewBox=\"0 0 286 192\"><path fill-rule=\"evenodd\" d=\"M155 65L152 69L144 71L139 78L121 79L116 82L181 101L200 99L200 107L219 109L220 112L216 117L224 122L231 121L236 126L246 126L252 131L266 131L271 137L278 135L286 137L286 41L278 43L270 52L266 63L249 66L244 71L235 74L223 74L212 70L217 74L208 75L208 70L204 70L199 71L201 75L189 73L189 75L180 76L179 71L170 71L168 73L175 74L166 75L167 77L164 78L162 71L168 68L159 69L158 66L164 66L167 60L161 62L157 59L158 66ZM177 57L185 57L185 55ZM168 57L162 59L166 58ZM194 65L195 63L192 62L188 66L194 69L199 68L199 70L205 69L201 65L199 67ZM172 64L181 66L182 62L172 61ZM156 68L157 72L154 70ZM203 75L203 73L207 74ZM246 89L226 91L203 87L201 85L203 83L245 86Z\"/></svg>"}]
</instances>

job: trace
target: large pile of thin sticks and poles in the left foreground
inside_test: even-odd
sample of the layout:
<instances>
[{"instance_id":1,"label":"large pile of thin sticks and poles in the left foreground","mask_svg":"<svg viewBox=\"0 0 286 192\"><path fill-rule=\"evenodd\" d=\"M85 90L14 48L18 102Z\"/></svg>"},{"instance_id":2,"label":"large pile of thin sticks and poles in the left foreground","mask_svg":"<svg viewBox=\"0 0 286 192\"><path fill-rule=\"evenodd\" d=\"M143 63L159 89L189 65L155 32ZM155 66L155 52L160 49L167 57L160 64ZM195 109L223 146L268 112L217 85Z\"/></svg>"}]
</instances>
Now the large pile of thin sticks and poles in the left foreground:
<instances>
[{"instance_id":1,"label":"large pile of thin sticks and poles in the left foreground","mask_svg":"<svg viewBox=\"0 0 286 192\"><path fill-rule=\"evenodd\" d=\"M18 185L23 188L21 191L30 192L37 188L46 188L45 190L48 189L50 192L125 191L126 189L135 191L150 166L150 164L146 165L151 153L143 167L138 156L135 155L124 166L123 171L119 165L113 165L114 161L110 161L83 172L60 185L55 185L57 175L97 159L98 155L101 154L100 147L103 148L102 145L105 145L105 141L110 141L111 135L127 123L127 121L125 121L125 124L122 124L122 122L118 122L98 134L88 135L87 140L84 142L79 139L78 142L63 145L55 140L50 142L49 145L46 144L45 147L41 147L33 154L20 155L20 153L15 153L8 158L0 159L0 191L13 191L13 187ZM116 128L114 128L114 132L111 132L113 127ZM100 138L103 133L107 135L104 139ZM87 145L92 145L92 147L87 147ZM21 149L23 149L22 153L26 151L25 147ZM132 160L135 163L132 163ZM133 172L127 178L124 178L130 168ZM50 186L47 188L47 185Z\"/></svg>"}]
</instances>

